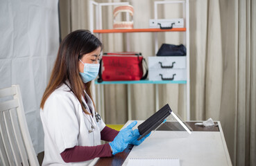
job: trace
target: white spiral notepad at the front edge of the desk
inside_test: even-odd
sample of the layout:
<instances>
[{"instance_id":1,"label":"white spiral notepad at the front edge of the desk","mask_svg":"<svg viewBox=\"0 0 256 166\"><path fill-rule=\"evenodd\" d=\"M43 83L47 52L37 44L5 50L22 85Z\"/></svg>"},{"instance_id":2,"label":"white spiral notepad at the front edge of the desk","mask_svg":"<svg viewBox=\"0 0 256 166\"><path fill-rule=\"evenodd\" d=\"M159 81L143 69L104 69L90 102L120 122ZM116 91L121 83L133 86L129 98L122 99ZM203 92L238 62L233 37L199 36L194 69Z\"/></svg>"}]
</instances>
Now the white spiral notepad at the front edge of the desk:
<instances>
[{"instance_id":1,"label":"white spiral notepad at the front edge of the desk","mask_svg":"<svg viewBox=\"0 0 256 166\"><path fill-rule=\"evenodd\" d=\"M180 166L178 158L129 158L127 166L158 166L172 165Z\"/></svg>"}]
</instances>

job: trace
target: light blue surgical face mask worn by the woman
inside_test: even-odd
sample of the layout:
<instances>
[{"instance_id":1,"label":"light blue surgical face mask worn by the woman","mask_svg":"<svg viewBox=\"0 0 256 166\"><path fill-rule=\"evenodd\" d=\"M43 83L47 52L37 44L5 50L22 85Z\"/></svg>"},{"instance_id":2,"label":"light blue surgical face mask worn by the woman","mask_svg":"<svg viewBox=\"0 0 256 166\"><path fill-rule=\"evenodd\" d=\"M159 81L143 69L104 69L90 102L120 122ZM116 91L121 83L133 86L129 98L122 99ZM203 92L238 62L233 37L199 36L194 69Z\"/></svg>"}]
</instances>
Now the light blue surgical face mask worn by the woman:
<instances>
[{"instance_id":1,"label":"light blue surgical face mask worn by the woman","mask_svg":"<svg viewBox=\"0 0 256 166\"><path fill-rule=\"evenodd\" d=\"M80 60L80 59L79 59ZM80 60L80 62L82 62ZM83 63L83 73L79 72L84 83L94 80L99 74L99 64L86 64Z\"/></svg>"}]
</instances>

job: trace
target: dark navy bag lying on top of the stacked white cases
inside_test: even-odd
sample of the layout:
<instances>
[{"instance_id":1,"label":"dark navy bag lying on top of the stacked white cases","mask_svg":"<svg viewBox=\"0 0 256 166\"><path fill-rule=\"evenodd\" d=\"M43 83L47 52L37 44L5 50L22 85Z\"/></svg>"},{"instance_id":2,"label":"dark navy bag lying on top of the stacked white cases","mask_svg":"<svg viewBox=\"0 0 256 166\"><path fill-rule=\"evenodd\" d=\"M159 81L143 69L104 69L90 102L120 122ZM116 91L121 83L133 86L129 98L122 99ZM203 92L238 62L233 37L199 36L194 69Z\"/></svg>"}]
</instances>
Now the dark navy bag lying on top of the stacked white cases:
<instances>
[{"instance_id":1,"label":"dark navy bag lying on top of the stacked white cases","mask_svg":"<svg viewBox=\"0 0 256 166\"><path fill-rule=\"evenodd\" d=\"M178 46L173 44L162 44L157 52L157 56L185 56L187 49L183 44Z\"/></svg>"}]
</instances>

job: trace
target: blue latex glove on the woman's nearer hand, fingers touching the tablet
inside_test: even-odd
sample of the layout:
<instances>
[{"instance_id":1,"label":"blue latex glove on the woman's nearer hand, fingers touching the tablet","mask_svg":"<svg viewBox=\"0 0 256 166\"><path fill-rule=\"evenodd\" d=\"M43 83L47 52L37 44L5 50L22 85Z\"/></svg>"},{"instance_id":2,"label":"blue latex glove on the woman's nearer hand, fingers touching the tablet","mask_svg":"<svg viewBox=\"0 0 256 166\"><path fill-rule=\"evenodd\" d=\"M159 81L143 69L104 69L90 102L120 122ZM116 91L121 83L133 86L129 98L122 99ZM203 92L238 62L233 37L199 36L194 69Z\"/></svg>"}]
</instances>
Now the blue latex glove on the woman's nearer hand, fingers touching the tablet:
<instances>
[{"instance_id":1,"label":"blue latex glove on the woman's nearer hand, fingers touching the tablet","mask_svg":"<svg viewBox=\"0 0 256 166\"><path fill-rule=\"evenodd\" d=\"M117 154L126 149L128 144L130 143L130 140L133 139L133 127L135 127L136 124L137 121L134 121L131 124L129 124L128 127L119 131L114 140L110 142L112 154Z\"/></svg>"}]
</instances>

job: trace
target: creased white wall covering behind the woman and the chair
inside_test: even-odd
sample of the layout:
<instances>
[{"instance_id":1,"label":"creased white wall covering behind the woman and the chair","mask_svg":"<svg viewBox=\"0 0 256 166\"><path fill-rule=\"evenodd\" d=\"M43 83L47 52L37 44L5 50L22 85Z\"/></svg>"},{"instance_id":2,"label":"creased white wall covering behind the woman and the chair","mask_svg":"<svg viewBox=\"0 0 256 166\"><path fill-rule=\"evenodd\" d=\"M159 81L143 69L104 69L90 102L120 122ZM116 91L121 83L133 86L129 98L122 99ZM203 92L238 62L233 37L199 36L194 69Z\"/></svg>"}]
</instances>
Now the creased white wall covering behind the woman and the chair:
<instances>
[{"instance_id":1,"label":"creased white wall covering behind the woman and the chair","mask_svg":"<svg viewBox=\"0 0 256 166\"><path fill-rule=\"evenodd\" d=\"M0 89L20 85L37 153L44 150L40 101L58 46L58 0L0 0Z\"/></svg>"}]
</instances>

